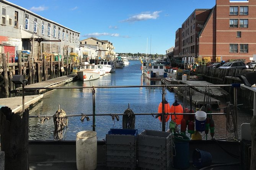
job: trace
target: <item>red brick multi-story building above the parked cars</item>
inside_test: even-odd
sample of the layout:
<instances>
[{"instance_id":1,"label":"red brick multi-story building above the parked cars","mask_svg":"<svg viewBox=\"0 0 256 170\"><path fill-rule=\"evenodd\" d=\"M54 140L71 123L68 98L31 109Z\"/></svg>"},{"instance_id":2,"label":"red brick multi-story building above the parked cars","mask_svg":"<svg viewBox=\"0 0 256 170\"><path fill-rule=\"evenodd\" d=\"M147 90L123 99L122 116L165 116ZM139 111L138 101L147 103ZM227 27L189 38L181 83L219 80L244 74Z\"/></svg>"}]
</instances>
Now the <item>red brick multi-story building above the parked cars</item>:
<instances>
[{"instance_id":1,"label":"red brick multi-story building above the parked cars","mask_svg":"<svg viewBox=\"0 0 256 170\"><path fill-rule=\"evenodd\" d=\"M212 9L196 9L182 24L181 55L190 63L201 56L249 61L256 54L256 1L216 0ZM174 57L180 45L176 31Z\"/></svg>"}]
</instances>

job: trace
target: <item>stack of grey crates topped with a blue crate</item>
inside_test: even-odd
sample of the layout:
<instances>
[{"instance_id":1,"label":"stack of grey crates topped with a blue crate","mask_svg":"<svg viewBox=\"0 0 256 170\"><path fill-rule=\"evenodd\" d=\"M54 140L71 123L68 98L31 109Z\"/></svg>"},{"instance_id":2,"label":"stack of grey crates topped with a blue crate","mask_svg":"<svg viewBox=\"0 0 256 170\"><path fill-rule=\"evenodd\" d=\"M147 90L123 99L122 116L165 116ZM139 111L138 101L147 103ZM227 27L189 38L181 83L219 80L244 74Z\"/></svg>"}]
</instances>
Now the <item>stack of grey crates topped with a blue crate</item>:
<instances>
[{"instance_id":1,"label":"stack of grey crates topped with a blue crate","mask_svg":"<svg viewBox=\"0 0 256 170\"><path fill-rule=\"evenodd\" d=\"M136 169L137 134L137 129L110 129L106 135L106 162L109 169Z\"/></svg>"}]
</instances>

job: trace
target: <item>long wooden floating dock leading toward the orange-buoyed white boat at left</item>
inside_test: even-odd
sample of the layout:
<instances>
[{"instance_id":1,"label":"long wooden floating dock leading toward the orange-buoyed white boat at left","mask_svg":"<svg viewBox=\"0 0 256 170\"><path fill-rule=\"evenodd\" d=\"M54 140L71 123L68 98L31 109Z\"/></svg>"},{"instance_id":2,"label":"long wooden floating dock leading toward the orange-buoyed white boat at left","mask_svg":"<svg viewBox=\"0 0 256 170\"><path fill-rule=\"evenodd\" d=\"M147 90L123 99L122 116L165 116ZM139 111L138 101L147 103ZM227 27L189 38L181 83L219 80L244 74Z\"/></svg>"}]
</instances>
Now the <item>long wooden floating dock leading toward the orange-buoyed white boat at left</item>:
<instances>
[{"instance_id":1,"label":"long wooden floating dock leading toward the orange-buoyed white boat at left","mask_svg":"<svg viewBox=\"0 0 256 170\"><path fill-rule=\"evenodd\" d=\"M43 82L38 82L34 84L25 85L24 91L25 92L31 92L31 93L43 93L46 91L46 89L35 89L35 90L28 90L26 88L39 88L39 87L60 87L63 86L69 82L72 82L77 77L76 74L70 74L70 75L64 75L62 77L57 77L55 79L46 80ZM19 92L22 91L22 87L16 88Z\"/></svg>"}]
</instances>

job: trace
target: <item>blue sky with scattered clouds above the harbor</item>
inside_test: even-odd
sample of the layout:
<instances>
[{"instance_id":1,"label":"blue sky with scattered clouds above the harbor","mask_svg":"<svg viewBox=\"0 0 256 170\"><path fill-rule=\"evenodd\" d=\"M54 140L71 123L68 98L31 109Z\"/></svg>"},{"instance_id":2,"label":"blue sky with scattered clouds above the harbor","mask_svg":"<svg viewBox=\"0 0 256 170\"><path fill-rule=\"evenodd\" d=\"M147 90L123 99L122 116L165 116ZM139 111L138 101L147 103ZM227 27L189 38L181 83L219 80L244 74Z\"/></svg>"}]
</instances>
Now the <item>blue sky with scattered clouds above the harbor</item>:
<instances>
[{"instance_id":1,"label":"blue sky with scattered clouds above the harbor","mask_svg":"<svg viewBox=\"0 0 256 170\"><path fill-rule=\"evenodd\" d=\"M116 53L165 54L195 9L216 0L8 0L80 32L113 43Z\"/></svg>"}]
</instances>

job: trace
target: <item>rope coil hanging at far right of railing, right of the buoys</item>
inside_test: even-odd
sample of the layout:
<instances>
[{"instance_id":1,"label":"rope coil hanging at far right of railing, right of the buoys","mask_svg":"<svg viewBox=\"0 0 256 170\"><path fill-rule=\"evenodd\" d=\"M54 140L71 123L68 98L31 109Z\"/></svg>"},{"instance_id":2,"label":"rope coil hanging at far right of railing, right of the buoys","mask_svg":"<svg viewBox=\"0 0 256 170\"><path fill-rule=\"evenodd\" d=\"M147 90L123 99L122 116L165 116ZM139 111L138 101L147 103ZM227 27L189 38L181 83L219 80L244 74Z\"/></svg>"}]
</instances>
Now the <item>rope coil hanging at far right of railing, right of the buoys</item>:
<instances>
[{"instance_id":1,"label":"rope coil hanging at far right of railing, right of the buoys","mask_svg":"<svg viewBox=\"0 0 256 170\"><path fill-rule=\"evenodd\" d=\"M226 119L227 119L227 121L226 121L226 130L227 130L226 135L228 137L227 133L233 133L233 136L231 138L234 139L234 137L238 136L235 107L234 107L233 104L230 104L230 102L227 102L227 104L228 104L228 106L227 106L227 114L226 114Z\"/></svg>"}]
</instances>

